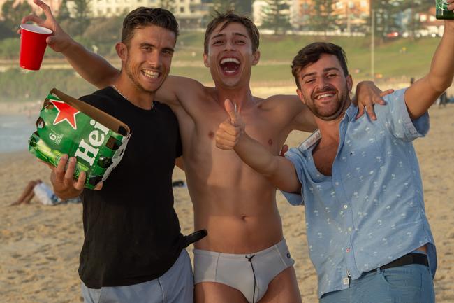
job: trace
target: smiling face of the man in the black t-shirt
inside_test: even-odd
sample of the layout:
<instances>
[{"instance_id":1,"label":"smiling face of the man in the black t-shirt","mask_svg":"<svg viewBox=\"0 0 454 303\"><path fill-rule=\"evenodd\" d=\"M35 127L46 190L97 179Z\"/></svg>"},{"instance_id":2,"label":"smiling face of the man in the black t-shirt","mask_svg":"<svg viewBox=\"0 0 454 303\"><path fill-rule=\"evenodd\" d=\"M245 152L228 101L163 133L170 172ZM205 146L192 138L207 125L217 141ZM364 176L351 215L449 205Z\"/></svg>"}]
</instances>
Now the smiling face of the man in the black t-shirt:
<instances>
[{"instance_id":1,"label":"smiling face of the man in the black t-shirt","mask_svg":"<svg viewBox=\"0 0 454 303\"><path fill-rule=\"evenodd\" d=\"M131 40L118 43L122 72L126 73L140 92L154 93L170 71L175 33L163 27L148 25L134 29Z\"/></svg>"}]
</instances>

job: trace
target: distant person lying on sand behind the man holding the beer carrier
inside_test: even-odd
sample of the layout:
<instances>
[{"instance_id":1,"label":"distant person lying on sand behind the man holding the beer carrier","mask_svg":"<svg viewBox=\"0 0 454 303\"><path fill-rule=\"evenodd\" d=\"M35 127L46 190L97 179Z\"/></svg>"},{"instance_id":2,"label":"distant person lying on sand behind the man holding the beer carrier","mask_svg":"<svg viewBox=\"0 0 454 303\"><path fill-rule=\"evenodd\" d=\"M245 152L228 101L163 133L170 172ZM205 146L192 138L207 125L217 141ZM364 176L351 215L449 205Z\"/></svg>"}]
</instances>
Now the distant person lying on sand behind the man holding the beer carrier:
<instances>
[{"instance_id":1,"label":"distant person lying on sand behind the man holding the beer carrier","mask_svg":"<svg viewBox=\"0 0 454 303\"><path fill-rule=\"evenodd\" d=\"M19 204L30 204L31 199L36 196L44 205L57 205L65 203L80 203L80 198L75 197L71 199L60 199L57 195L54 194L52 189L47 186L40 179L30 181L27 186L25 186L22 195L19 199L10 206L19 205Z\"/></svg>"}]
</instances>

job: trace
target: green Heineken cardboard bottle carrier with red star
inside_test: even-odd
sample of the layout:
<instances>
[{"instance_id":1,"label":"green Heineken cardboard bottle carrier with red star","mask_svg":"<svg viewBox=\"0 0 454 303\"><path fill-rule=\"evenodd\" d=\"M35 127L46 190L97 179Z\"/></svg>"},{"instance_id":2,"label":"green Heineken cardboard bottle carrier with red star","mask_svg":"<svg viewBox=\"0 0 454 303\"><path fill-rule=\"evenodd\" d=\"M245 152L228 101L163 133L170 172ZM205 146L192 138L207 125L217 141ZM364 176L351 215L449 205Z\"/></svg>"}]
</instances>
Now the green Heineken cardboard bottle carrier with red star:
<instances>
[{"instance_id":1,"label":"green Heineken cardboard bottle carrier with red star","mask_svg":"<svg viewBox=\"0 0 454 303\"><path fill-rule=\"evenodd\" d=\"M122 160L131 136L128 125L83 101L52 89L44 101L29 151L57 167L61 155L76 157L74 178L85 171L85 187L105 181Z\"/></svg>"}]
</instances>

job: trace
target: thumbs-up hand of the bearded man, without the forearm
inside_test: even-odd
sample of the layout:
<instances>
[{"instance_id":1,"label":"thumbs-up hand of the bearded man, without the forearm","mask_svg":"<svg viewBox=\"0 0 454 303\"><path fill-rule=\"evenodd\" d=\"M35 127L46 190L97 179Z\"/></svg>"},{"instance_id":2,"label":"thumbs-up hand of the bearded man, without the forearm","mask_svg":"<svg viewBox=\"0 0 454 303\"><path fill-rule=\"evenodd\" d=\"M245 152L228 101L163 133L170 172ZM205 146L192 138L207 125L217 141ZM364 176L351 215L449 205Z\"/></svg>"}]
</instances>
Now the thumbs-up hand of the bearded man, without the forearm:
<instances>
[{"instance_id":1,"label":"thumbs-up hand of the bearded man, without the forearm","mask_svg":"<svg viewBox=\"0 0 454 303\"><path fill-rule=\"evenodd\" d=\"M245 125L240 113L235 111L235 107L229 99L224 101L224 107L228 113L228 118L217 129L216 146L223 150L232 150L244 134Z\"/></svg>"}]
</instances>

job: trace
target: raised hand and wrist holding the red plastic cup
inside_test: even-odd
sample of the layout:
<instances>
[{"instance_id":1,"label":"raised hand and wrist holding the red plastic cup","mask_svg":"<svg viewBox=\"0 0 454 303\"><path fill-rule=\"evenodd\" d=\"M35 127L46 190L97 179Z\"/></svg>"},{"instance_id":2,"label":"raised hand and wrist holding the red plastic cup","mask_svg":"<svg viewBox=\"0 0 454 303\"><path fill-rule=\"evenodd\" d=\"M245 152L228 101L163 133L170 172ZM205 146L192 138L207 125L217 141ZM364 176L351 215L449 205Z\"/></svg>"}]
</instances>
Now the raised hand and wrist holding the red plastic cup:
<instances>
[{"instance_id":1,"label":"raised hand and wrist holding the red plastic cup","mask_svg":"<svg viewBox=\"0 0 454 303\"><path fill-rule=\"evenodd\" d=\"M55 20L54 15L52 15L52 10L50 10L50 7L46 3L41 0L34 0L34 3L44 11L45 20L41 19L34 13L31 13L30 15L22 18L22 24L28 21L32 21L38 24L38 26L40 27L45 27L52 30L53 34L46 39L47 45L49 45L50 48L52 48L52 50L56 52L64 52L64 50L66 50L71 45L73 39L68 34L66 34L63 29L61 29L61 27L57 23L57 20ZM20 34L20 29L17 31L17 33Z\"/></svg>"}]
</instances>

